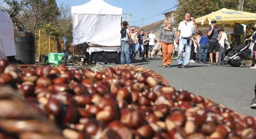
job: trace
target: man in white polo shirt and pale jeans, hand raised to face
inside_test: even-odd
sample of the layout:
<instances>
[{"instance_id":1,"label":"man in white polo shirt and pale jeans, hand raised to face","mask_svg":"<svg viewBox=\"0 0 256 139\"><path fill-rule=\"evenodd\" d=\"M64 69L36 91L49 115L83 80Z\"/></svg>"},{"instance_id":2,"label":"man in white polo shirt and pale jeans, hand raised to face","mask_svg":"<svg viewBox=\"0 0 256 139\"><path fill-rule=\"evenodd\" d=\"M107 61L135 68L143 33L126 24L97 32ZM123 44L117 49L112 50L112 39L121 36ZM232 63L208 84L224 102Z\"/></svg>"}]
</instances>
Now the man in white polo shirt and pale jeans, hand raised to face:
<instances>
[{"instance_id":1,"label":"man in white polo shirt and pale jeans, hand raised to face","mask_svg":"<svg viewBox=\"0 0 256 139\"><path fill-rule=\"evenodd\" d=\"M194 30L197 30L197 25L195 22L195 19L191 17L191 13L187 12L185 14L185 20L181 21L179 23L178 27L178 32L176 36L176 44L179 43L179 48L178 48L178 58L177 58L177 63L178 63L178 68L181 68L181 63L182 63L182 54L184 52L185 48L185 58L183 61L184 68L188 68L188 62L190 58L190 53L191 53L191 46L192 46L192 34ZM179 42L178 42L178 37L180 36Z\"/></svg>"}]
</instances>

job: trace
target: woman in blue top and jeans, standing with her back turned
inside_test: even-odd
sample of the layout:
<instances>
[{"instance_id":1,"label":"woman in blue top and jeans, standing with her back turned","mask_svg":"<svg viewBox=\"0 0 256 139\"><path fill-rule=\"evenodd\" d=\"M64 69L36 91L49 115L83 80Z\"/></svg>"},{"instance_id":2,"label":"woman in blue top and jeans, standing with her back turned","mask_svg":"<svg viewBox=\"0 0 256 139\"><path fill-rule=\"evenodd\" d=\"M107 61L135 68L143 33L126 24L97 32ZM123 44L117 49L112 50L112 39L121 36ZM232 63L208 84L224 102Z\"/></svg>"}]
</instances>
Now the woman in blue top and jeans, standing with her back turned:
<instances>
[{"instance_id":1,"label":"woman in blue top and jeans, standing with her back turned","mask_svg":"<svg viewBox=\"0 0 256 139\"><path fill-rule=\"evenodd\" d=\"M208 30L204 30L204 33L202 34L200 41L199 41L199 48L200 48L200 54L198 58L198 63L201 63L203 54L204 54L204 64L206 64L206 57L209 51L209 40L208 40Z\"/></svg>"}]
</instances>

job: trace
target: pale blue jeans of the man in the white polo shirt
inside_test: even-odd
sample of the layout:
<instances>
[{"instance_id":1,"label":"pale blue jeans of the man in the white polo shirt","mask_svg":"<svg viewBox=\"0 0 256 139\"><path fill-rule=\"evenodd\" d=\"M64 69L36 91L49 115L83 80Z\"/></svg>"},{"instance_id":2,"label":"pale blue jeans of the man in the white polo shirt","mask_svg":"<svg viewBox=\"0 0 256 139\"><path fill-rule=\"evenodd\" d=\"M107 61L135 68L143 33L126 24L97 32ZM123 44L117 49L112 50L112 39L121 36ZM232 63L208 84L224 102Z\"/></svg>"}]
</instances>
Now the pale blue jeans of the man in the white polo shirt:
<instances>
[{"instance_id":1,"label":"pale blue jeans of the man in the white polo shirt","mask_svg":"<svg viewBox=\"0 0 256 139\"><path fill-rule=\"evenodd\" d=\"M185 58L183 61L183 65L188 65L190 53L191 53L191 46L192 46L192 40L189 40L189 44L187 43L186 39L179 40L178 59L177 59L178 64L182 63L182 58L183 58L182 55L183 55L184 48L185 48L186 54L185 54Z\"/></svg>"}]
</instances>

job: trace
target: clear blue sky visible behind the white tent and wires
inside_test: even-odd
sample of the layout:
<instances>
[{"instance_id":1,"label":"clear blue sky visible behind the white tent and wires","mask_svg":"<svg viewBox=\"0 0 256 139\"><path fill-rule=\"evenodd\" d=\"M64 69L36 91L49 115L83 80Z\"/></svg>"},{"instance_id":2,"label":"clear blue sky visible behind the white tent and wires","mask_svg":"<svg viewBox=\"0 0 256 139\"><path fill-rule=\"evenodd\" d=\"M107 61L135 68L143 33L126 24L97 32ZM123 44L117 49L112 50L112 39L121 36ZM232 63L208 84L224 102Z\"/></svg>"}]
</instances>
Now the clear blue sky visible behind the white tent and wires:
<instances>
[{"instance_id":1,"label":"clear blue sky visible behind the white tent and wires","mask_svg":"<svg viewBox=\"0 0 256 139\"><path fill-rule=\"evenodd\" d=\"M84 3L89 2L90 0L56 0L57 4L60 5L63 3L69 3L71 6L78 6ZM147 19L143 20L143 25L150 24L161 19L164 19L164 15L160 14L161 12L170 9L175 6L177 3L176 0L104 0L110 5L123 8L123 14L131 14L129 16L129 25L131 26L141 26L142 18ZM168 11L173 11L176 8L170 9ZM168 12L167 11L167 12ZM160 14L160 15L158 15ZM152 17L152 15L157 15ZM123 15L124 17L124 15ZM152 18L150 18L152 17ZM124 17L124 20L127 20ZM148 19L150 18L150 19ZM138 22L140 21L140 22Z\"/></svg>"}]
</instances>

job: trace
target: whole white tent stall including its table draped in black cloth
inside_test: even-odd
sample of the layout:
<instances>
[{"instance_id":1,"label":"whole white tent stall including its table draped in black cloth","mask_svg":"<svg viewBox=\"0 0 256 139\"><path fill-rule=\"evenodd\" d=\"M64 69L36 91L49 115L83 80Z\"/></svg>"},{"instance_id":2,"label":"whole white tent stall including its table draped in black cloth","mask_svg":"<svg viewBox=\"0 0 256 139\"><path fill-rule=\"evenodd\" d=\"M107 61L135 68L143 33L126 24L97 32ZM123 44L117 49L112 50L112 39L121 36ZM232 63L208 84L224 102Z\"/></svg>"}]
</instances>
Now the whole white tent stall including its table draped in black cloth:
<instances>
[{"instance_id":1,"label":"whole white tent stall including its table draped in black cloth","mask_svg":"<svg viewBox=\"0 0 256 139\"><path fill-rule=\"evenodd\" d=\"M72 6L71 14L72 45L90 42L93 46L97 45L88 49L91 58L99 62L120 63L122 8L111 6L103 0L91 0L83 5Z\"/></svg>"}]
</instances>

